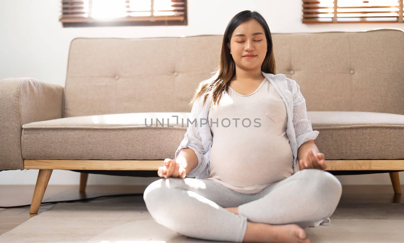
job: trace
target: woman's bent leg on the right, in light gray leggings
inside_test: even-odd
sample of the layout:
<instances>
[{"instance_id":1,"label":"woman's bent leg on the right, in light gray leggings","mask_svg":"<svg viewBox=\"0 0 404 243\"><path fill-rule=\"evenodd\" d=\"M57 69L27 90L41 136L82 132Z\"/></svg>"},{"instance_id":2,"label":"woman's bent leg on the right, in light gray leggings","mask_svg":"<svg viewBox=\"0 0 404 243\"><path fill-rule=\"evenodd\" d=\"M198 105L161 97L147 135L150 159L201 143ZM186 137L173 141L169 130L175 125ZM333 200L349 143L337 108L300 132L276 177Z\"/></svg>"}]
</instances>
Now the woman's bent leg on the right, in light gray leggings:
<instances>
[{"instance_id":1,"label":"woman's bent leg on the right, in light gray leggings","mask_svg":"<svg viewBox=\"0 0 404 243\"><path fill-rule=\"evenodd\" d=\"M341 182L334 175L305 169L272 184L263 197L237 209L251 222L297 224L305 228L331 216L341 194Z\"/></svg>"}]
</instances>

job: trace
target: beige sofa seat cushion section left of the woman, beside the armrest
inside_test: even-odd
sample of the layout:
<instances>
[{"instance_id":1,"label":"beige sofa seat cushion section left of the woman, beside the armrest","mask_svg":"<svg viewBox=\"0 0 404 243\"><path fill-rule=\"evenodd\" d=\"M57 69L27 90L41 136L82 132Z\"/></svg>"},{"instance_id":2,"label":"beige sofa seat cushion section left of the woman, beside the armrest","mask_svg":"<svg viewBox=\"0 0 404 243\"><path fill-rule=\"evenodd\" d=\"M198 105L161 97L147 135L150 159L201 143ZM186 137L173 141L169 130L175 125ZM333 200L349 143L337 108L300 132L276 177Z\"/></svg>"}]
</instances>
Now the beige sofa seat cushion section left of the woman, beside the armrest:
<instances>
[{"instance_id":1,"label":"beige sofa seat cushion section left of the woman, beside the armrest","mask_svg":"<svg viewBox=\"0 0 404 243\"><path fill-rule=\"evenodd\" d=\"M173 158L187 130L189 114L122 113L31 122L22 126L22 156L23 159ZM178 123L173 115L178 116ZM156 118L160 123L156 123ZM145 126L145 119L147 126L153 119L151 127Z\"/></svg>"}]
</instances>

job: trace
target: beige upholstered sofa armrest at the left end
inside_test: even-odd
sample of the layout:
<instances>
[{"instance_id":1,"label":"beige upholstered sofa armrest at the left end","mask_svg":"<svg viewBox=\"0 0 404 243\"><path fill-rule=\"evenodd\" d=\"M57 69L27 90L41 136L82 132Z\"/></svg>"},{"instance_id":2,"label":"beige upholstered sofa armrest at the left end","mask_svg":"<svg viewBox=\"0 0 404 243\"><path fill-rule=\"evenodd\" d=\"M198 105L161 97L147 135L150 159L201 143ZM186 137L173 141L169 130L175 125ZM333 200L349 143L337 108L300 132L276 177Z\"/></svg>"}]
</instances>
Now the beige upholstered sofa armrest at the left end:
<instances>
[{"instance_id":1,"label":"beige upholstered sofa armrest at the left end","mask_svg":"<svg viewBox=\"0 0 404 243\"><path fill-rule=\"evenodd\" d=\"M33 78L0 80L0 171L23 170L22 125L62 117L63 86Z\"/></svg>"}]
</instances>

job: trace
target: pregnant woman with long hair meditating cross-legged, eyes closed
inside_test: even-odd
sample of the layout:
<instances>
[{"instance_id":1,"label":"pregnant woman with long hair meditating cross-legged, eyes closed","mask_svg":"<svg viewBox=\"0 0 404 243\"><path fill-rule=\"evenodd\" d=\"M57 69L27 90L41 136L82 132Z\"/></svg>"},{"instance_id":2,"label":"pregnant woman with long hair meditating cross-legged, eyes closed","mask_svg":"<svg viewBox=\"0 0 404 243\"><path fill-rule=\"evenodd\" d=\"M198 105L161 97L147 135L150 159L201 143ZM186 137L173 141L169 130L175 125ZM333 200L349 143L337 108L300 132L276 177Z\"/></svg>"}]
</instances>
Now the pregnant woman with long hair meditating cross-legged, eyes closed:
<instances>
[{"instance_id":1,"label":"pregnant woman with long hair meditating cross-legged, eyes closed","mask_svg":"<svg viewBox=\"0 0 404 243\"><path fill-rule=\"evenodd\" d=\"M324 171L299 85L276 74L259 13L231 19L219 67L190 105L174 159L143 195L158 224L198 239L288 243L309 243L303 228L330 224L341 183Z\"/></svg>"}]
</instances>

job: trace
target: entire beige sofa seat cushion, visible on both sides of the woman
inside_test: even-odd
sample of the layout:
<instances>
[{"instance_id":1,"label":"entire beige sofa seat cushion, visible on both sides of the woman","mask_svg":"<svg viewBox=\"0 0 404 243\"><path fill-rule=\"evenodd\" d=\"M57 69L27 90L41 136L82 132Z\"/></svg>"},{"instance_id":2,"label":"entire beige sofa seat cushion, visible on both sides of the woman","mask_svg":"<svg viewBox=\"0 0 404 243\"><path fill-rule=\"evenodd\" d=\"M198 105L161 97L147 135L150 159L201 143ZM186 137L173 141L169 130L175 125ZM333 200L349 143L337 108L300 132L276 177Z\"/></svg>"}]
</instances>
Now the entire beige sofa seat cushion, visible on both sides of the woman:
<instances>
[{"instance_id":1,"label":"entire beige sofa seat cushion, visible on both sides of the woman","mask_svg":"<svg viewBox=\"0 0 404 243\"><path fill-rule=\"evenodd\" d=\"M23 125L22 156L24 159L173 158L184 138L189 114L124 113L31 122ZM178 115L178 123L173 115ZM313 130L320 132L315 143L327 160L404 158L404 115L307 111L307 117ZM151 118L153 126L146 127L145 119L150 125ZM161 124L156 127L156 118L164 127Z\"/></svg>"}]
</instances>

